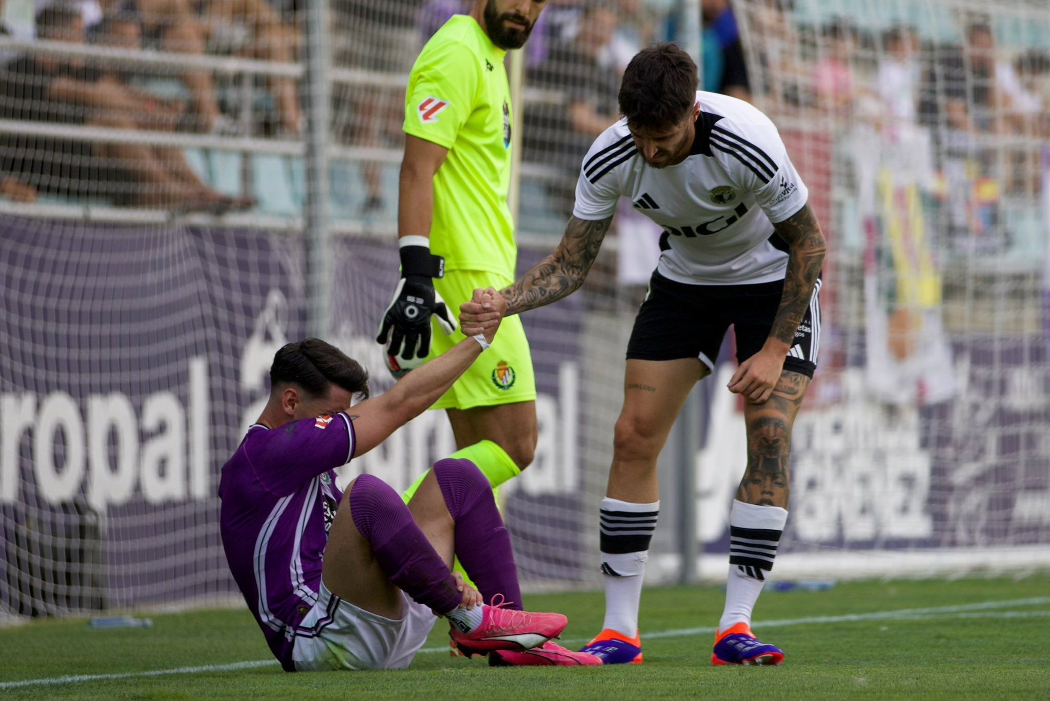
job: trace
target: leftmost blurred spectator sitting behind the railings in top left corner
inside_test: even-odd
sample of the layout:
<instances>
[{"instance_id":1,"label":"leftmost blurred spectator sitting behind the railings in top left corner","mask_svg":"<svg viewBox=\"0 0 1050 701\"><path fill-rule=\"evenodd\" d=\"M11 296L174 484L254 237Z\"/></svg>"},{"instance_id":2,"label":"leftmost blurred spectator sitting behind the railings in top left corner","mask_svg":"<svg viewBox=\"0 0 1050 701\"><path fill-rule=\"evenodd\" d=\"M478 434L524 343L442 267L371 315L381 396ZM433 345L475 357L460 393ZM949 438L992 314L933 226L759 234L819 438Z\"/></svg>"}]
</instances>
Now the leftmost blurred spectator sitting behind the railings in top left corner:
<instances>
[{"instance_id":1,"label":"leftmost blurred spectator sitting behind the railings in top left corner","mask_svg":"<svg viewBox=\"0 0 1050 701\"><path fill-rule=\"evenodd\" d=\"M84 42L77 9L56 5L39 21L42 39ZM0 69L0 116L64 125L147 128L149 105L82 58L46 54ZM178 149L76 139L5 136L0 171L19 173L38 190L64 196L103 196L118 205L225 211L248 203L209 188Z\"/></svg>"}]
</instances>

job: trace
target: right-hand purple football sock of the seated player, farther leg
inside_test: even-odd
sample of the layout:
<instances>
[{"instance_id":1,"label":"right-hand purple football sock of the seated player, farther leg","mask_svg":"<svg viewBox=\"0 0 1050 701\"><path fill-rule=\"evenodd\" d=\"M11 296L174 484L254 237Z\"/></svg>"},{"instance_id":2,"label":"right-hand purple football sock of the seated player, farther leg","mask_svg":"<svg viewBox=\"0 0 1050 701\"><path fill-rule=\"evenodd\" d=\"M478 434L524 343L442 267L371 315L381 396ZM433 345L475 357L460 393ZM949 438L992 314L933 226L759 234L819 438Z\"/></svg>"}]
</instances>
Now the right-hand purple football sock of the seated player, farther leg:
<instances>
[{"instance_id":1,"label":"right-hand purple football sock of the seated player, farther leg","mask_svg":"<svg viewBox=\"0 0 1050 701\"><path fill-rule=\"evenodd\" d=\"M456 556L485 603L502 594L508 609L522 610L518 568L510 534L492 498L492 486L468 460L446 458L434 464L441 493L456 522Z\"/></svg>"}]
</instances>

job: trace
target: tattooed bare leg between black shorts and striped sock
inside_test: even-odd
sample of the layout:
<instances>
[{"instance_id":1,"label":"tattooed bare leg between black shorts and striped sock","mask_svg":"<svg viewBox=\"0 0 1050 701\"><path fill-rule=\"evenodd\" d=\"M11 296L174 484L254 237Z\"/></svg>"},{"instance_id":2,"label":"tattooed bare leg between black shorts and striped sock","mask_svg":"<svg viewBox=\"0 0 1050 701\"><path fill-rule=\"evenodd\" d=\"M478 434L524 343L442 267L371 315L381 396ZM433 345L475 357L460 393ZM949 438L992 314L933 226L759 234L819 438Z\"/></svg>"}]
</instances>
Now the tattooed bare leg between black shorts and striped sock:
<instances>
[{"instance_id":1,"label":"tattooed bare leg between black shorts and striped sock","mask_svg":"<svg viewBox=\"0 0 1050 701\"><path fill-rule=\"evenodd\" d=\"M744 404L748 467L736 498L747 504L788 508L791 493L791 430L810 378L784 370L769 401Z\"/></svg>"}]
</instances>

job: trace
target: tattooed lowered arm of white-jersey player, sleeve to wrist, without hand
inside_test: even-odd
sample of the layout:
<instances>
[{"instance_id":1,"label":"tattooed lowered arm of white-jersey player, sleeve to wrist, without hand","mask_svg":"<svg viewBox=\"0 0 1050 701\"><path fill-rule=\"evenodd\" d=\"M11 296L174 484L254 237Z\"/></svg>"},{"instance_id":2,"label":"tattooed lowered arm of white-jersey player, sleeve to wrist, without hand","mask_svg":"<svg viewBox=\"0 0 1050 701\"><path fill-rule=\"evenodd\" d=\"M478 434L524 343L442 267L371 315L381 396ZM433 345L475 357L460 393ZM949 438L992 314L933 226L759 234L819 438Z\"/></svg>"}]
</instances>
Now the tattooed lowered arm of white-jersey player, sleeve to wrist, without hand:
<instances>
[{"instance_id":1,"label":"tattooed lowered arm of white-jersey player, sleeve to wrist, without hand","mask_svg":"<svg viewBox=\"0 0 1050 701\"><path fill-rule=\"evenodd\" d=\"M795 342L795 332L802 322L820 276L820 267L824 261L824 235L808 203L788 219L773 225L773 228L786 241L790 252L784 291L770 337L791 345Z\"/></svg>"}]
</instances>

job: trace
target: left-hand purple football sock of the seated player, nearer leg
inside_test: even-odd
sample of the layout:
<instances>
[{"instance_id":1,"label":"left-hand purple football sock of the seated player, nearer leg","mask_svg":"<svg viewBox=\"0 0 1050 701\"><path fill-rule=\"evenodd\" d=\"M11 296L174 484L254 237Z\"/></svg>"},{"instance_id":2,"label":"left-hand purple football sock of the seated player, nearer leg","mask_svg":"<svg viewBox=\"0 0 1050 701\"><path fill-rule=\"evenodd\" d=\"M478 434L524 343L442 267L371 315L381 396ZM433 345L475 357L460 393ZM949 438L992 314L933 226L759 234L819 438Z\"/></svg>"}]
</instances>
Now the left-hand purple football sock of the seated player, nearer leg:
<instances>
[{"instance_id":1,"label":"left-hand purple football sock of the seated player, nearer leg","mask_svg":"<svg viewBox=\"0 0 1050 701\"><path fill-rule=\"evenodd\" d=\"M391 583L438 614L463 601L453 573L390 485L371 474L358 476L350 512Z\"/></svg>"}]
</instances>

